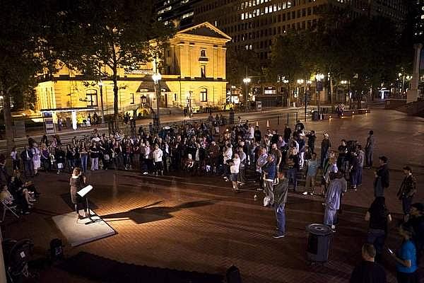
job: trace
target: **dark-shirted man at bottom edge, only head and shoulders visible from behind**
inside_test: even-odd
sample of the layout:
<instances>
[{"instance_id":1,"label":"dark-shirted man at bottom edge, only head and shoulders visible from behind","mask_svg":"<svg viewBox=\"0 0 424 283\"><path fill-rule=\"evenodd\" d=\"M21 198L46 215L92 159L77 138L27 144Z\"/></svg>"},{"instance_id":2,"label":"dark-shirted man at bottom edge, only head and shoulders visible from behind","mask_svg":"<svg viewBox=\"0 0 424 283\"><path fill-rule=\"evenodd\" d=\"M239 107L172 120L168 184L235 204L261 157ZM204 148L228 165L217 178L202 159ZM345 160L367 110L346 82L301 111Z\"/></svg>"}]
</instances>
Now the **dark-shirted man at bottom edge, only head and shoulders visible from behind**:
<instances>
[{"instance_id":1,"label":"dark-shirted man at bottom edge, only head and shoulders visible from behind","mask_svg":"<svg viewBox=\"0 0 424 283\"><path fill-rule=\"evenodd\" d=\"M384 268L375 262L375 248L370 243L362 247L363 261L356 265L349 283L386 283Z\"/></svg>"}]
</instances>

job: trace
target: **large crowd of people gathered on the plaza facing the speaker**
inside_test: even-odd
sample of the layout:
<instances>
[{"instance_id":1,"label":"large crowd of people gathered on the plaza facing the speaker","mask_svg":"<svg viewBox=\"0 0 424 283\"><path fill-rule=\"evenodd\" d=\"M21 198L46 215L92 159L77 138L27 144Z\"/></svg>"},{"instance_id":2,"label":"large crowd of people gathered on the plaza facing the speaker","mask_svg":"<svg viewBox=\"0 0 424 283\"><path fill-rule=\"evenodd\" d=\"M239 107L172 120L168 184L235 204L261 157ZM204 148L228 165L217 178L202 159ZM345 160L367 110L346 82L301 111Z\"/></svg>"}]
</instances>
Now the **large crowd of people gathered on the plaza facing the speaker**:
<instances>
[{"instance_id":1,"label":"large crowd of people gathered on the plaza facing the speaker","mask_svg":"<svg viewBox=\"0 0 424 283\"><path fill-rule=\"evenodd\" d=\"M140 127L134 137L118 132L109 135L94 132L92 137L74 137L66 145L61 144L59 136L44 136L40 142L28 137L28 146L23 151L18 152L16 148L11 151L12 167L16 174L22 169L29 178L40 170L72 173L71 192L72 187L76 191L85 183L83 175L88 170L113 168L136 170L144 175L220 176L231 182L236 193L243 187L264 192L264 206L273 207L276 214L274 238L286 235L285 203L289 190L303 195L319 195L323 197L325 207L323 224L336 231L343 195L348 190L358 190L362 185L363 169L373 168L374 132L369 132L365 146L345 139L334 146L334 141L324 132L318 157L315 151L317 136L313 130L306 131L300 121L293 129L285 125L283 132L278 133L277 129L271 128L262 132L259 125L239 119L237 124L220 132L219 119L212 117L206 123L163 129L158 134ZM382 254L387 250L384 241L392 219L384 197L390 179L388 158L379 156L378 160L375 200L364 216L370 223L365 237L367 244L363 246L365 262L370 262L371 258L381 262ZM413 202L417 188L412 169L405 166L404 173L405 179L397 194L404 211L399 227L404 242L399 253L390 254L398 266L399 282L415 282L408 280L417 276L417 262L424 246L424 209L423 204ZM298 185L299 178L305 178L305 186ZM34 190L28 186L30 184L21 187ZM23 200L27 200L24 192L22 195ZM81 200L73 195L76 213L83 217L78 210ZM31 200L27 204L30 207ZM365 264L356 268L351 282L383 282L358 279L372 268L379 269L379 266Z\"/></svg>"}]
</instances>

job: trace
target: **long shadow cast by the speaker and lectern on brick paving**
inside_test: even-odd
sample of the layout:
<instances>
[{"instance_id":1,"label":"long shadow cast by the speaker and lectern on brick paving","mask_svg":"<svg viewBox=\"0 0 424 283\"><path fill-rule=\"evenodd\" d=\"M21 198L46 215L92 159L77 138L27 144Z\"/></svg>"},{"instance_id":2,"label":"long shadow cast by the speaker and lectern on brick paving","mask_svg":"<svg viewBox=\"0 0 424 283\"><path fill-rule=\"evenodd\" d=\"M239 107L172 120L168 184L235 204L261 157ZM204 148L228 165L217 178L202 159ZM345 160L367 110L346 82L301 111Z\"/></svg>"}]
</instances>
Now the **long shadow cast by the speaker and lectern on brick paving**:
<instances>
[{"instance_id":1,"label":"long shadow cast by the speaker and lectern on brick paving","mask_svg":"<svg viewBox=\"0 0 424 283\"><path fill-rule=\"evenodd\" d=\"M161 201L162 202L162 201ZM199 200L195 202L184 202L175 207L153 207L154 205L160 204L161 202L154 202L153 204L148 204L144 207L138 207L136 209L131 209L128 212L118 212L114 214L102 215L102 219L105 221L117 221L113 220L114 218L123 220L131 219L136 222L136 224L143 224L153 221L160 221L165 219L170 219L173 217L173 212L179 212L182 209L190 209L194 207L204 207L206 205L216 204L217 200Z\"/></svg>"}]
</instances>

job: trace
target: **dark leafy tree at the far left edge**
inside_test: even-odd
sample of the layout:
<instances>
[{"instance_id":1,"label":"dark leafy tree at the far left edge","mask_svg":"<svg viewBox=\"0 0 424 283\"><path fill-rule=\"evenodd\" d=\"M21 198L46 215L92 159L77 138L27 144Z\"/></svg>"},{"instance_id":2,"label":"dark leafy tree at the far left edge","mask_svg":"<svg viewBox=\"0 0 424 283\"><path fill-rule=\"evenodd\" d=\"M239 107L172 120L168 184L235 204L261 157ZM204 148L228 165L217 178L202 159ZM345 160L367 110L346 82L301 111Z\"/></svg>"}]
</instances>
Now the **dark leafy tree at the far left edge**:
<instances>
[{"instance_id":1,"label":"dark leafy tree at the far left edge","mask_svg":"<svg viewBox=\"0 0 424 283\"><path fill-rule=\"evenodd\" d=\"M3 96L6 147L13 146L11 97L22 99L35 86L37 74L50 67L45 54L49 47L42 35L46 24L42 1L1 3L0 11L0 93Z\"/></svg>"}]
</instances>

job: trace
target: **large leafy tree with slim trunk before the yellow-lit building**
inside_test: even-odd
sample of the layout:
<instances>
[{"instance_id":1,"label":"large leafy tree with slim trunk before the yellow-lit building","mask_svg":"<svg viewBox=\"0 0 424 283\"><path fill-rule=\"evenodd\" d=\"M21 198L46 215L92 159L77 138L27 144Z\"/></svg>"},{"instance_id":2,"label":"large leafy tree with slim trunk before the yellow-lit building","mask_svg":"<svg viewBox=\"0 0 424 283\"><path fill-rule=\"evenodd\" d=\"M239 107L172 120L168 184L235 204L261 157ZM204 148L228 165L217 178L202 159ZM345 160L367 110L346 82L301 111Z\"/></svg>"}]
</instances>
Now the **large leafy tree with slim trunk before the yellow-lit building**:
<instances>
[{"instance_id":1,"label":"large leafy tree with slim trunk before the yellow-lit building","mask_svg":"<svg viewBox=\"0 0 424 283\"><path fill-rule=\"evenodd\" d=\"M155 21L152 0L59 2L58 32L51 37L58 57L83 75L112 80L117 121L119 68L137 69L161 57L173 28ZM106 68L100 72L99 66Z\"/></svg>"}]
</instances>

